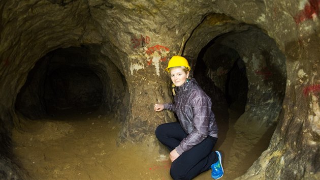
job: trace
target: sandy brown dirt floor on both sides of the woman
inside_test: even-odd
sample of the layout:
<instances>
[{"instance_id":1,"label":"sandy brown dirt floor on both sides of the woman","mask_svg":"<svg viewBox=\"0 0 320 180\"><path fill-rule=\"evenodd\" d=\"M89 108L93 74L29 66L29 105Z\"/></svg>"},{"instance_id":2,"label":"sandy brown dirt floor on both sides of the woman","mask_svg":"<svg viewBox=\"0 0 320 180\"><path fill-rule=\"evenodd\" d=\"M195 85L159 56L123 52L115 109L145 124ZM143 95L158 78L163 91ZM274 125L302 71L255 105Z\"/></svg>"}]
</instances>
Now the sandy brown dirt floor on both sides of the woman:
<instances>
[{"instance_id":1,"label":"sandy brown dirt floor on both sides of the woman","mask_svg":"<svg viewBox=\"0 0 320 180\"><path fill-rule=\"evenodd\" d=\"M256 131L236 123L239 114L229 110L229 121L219 119L219 140L225 175L234 179L268 147L274 127ZM120 143L116 119L80 114L56 121L42 119L25 124L27 132L13 131L14 154L33 179L171 179L167 149L154 137L141 143ZM160 151L159 151L160 150ZM211 170L195 179L212 179Z\"/></svg>"}]
</instances>

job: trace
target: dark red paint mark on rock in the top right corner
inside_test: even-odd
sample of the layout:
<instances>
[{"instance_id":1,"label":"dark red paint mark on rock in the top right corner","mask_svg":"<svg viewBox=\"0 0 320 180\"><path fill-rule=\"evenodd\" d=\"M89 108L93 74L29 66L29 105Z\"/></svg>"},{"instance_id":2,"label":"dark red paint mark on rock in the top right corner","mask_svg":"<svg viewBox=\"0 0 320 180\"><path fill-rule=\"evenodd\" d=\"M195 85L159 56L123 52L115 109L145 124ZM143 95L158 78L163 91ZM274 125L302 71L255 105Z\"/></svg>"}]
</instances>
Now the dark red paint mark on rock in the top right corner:
<instances>
[{"instance_id":1,"label":"dark red paint mark on rock in the top right corner","mask_svg":"<svg viewBox=\"0 0 320 180\"><path fill-rule=\"evenodd\" d=\"M318 16L319 5L320 0L309 0L304 9L294 17L296 23L299 24L300 22L313 19L315 16Z\"/></svg>"}]
</instances>

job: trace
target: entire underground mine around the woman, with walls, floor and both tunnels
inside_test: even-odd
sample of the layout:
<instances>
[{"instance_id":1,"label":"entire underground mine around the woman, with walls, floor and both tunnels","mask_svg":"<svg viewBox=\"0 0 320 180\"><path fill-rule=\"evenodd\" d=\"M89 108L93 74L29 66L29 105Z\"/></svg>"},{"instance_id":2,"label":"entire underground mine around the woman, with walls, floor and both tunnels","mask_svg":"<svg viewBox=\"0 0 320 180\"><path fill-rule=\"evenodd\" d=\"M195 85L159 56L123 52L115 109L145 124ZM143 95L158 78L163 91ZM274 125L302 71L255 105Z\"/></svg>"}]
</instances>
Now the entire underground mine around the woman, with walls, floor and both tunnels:
<instances>
[{"instance_id":1,"label":"entire underground mine around the woman, with walls, floor and both tunnels","mask_svg":"<svg viewBox=\"0 0 320 180\"><path fill-rule=\"evenodd\" d=\"M318 5L0 2L0 179L171 179L154 130L176 118L153 105L176 54L213 102L221 179L318 179Z\"/></svg>"}]
</instances>

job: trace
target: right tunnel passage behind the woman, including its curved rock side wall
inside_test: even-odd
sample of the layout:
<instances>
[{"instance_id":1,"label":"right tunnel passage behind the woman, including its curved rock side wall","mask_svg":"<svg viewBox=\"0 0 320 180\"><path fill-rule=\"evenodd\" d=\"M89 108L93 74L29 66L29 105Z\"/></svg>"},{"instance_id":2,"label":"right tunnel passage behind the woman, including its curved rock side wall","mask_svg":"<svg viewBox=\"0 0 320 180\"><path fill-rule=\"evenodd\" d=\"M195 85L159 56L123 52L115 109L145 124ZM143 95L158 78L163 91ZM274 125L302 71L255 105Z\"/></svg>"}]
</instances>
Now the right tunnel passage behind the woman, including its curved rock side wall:
<instances>
[{"instance_id":1,"label":"right tunnel passage behind the woman, including its curved rock side wall","mask_svg":"<svg viewBox=\"0 0 320 180\"><path fill-rule=\"evenodd\" d=\"M281 110L285 57L262 29L245 24L233 28L203 46L194 76L211 94L212 109L217 113L234 108L247 121L269 126Z\"/></svg>"}]
</instances>

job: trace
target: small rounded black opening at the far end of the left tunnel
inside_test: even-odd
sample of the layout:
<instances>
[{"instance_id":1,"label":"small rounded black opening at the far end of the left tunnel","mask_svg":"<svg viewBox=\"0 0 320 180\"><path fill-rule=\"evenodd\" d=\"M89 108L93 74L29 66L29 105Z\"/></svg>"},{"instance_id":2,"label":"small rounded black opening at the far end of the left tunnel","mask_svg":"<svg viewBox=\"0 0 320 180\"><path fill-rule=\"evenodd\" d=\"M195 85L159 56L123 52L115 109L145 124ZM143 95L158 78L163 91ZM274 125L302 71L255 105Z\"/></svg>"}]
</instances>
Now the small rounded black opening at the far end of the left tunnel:
<instances>
[{"instance_id":1,"label":"small rounded black opening at the far end of the left tunnel","mask_svg":"<svg viewBox=\"0 0 320 180\"><path fill-rule=\"evenodd\" d=\"M47 75L44 86L48 114L88 113L102 104L102 82L87 67L59 67Z\"/></svg>"}]
</instances>

